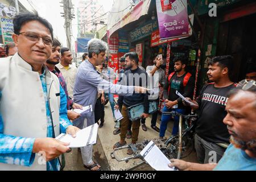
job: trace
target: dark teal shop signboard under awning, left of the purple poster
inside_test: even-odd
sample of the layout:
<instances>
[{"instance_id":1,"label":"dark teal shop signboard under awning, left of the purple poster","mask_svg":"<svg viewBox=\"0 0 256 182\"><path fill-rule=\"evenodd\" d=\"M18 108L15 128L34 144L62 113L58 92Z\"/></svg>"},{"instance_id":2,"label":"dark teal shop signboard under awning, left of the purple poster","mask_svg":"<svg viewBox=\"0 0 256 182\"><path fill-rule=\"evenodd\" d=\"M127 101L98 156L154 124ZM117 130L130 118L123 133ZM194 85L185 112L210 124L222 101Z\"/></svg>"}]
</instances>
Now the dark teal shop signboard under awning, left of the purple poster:
<instances>
[{"instance_id":1,"label":"dark teal shop signboard under awning, left of the purple poster","mask_svg":"<svg viewBox=\"0 0 256 182\"><path fill-rule=\"evenodd\" d=\"M151 20L130 32L131 42L143 39L156 30L158 30L158 22L157 20Z\"/></svg>"}]
</instances>

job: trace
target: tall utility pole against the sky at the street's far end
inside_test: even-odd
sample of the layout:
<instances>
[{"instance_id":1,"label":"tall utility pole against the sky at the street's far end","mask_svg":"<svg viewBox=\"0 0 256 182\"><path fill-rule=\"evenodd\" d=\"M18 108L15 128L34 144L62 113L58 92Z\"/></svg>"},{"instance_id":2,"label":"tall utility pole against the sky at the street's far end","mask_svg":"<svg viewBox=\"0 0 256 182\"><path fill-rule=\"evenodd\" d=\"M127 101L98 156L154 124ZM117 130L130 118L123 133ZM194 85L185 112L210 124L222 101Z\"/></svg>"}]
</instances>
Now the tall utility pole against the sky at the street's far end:
<instances>
[{"instance_id":1,"label":"tall utility pole against the sky at the street's far end","mask_svg":"<svg viewBox=\"0 0 256 182\"><path fill-rule=\"evenodd\" d=\"M64 17L65 19L65 31L66 31L66 35L67 35L67 47L71 50L72 52L72 43L71 43L71 36L72 36L72 19L75 18L75 15L73 14L73 5L71 0L63 0L60 2L61 4L63 4L63 10L64 13L61 13L63 15L61 15L62 17Z\"/></svg>"}]
</instances>

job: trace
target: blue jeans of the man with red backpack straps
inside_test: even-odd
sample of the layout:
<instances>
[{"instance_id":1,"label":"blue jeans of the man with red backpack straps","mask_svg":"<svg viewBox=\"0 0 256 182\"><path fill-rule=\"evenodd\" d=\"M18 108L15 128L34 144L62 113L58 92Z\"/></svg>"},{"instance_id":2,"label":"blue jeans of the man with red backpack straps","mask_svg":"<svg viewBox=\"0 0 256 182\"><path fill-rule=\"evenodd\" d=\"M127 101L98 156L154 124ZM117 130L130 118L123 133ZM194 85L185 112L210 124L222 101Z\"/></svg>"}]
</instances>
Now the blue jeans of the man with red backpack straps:
<instances>
[{"instance_id":1,"label":"blue jeans of the man with red backpack straps","mask_svg":"<svg viewBox=\"0 0 256 182\"><path fill-rule=\"evenodd\" d=\"M180 114L185 114L185 109L168 109L165 105L163 111L177 111ZM166 134L167 123L170 121L171 117L172 115L162 115L159 137L164 137L164 134ZM179 115L174 117L174 127L172 129L172 135L176 135L177 133L179 133Z\"/></svg>"}]
</instances>

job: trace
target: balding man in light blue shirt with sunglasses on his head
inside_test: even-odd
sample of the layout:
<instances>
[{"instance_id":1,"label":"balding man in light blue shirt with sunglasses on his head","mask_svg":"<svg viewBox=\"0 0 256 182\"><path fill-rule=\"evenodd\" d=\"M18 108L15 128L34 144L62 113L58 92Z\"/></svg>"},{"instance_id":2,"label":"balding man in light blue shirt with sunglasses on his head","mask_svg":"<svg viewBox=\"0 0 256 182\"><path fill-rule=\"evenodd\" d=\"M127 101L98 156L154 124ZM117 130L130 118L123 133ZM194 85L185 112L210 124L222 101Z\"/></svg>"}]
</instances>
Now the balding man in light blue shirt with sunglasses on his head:
<instances>
[{"instance_id":1,"label":"balding man in light blue shirt with sunglasses on his head","mask_svg":"<svg viewBox=\"0 0 256 182\"><path fill-rule=\"evenodd\" d=\"M197 164L172 159L169 167L180 170L255 171L256 170L256 84L243 80L228 94L228 114L224 118L230 145L218 164Z\"/></svg>"}]
</instances>

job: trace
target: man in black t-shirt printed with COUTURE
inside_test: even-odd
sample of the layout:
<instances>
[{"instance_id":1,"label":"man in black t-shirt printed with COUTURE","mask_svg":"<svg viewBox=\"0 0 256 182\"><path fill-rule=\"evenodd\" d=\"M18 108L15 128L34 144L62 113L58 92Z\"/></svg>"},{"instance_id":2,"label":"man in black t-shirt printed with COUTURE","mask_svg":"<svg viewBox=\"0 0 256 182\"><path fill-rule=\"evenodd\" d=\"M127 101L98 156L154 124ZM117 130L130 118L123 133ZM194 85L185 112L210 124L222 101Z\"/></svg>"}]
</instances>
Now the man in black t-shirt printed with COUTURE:
<instances>
[{"instance_id":1,"label":"man in black t-shirt printed with COUTURE","mask_svg":"<svg viewBox=\"0 0 256 182\"><path fill-rule=\"evenodd\" d=\"M226 116L227 94L236 87L230 81L232 72L232 56L218 56L209 61L207 72L209 81L201 90L194 102L199 109L200 118L197 121L195 148L200 163L217 163L229 145L229 133L223 119ZM191 101L190 98L188 100Z\"/></svg>"}]
</instances>

